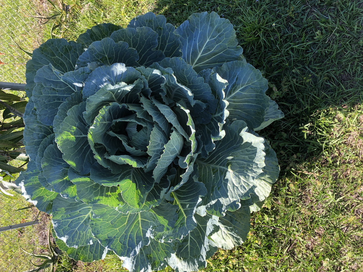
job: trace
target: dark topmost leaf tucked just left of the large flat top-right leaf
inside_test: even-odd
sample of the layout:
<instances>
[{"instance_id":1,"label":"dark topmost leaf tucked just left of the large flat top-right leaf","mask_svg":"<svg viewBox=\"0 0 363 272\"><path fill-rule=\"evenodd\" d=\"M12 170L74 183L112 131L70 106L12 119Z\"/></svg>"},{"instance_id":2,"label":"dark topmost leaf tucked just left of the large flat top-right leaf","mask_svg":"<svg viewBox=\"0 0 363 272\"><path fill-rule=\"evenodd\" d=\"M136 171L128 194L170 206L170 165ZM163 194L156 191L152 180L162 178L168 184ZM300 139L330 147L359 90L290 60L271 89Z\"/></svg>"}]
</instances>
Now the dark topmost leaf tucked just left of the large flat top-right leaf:
<instances>
[{"instance_id":1,"label":"dark topmost leaf tucked just left of the large flat top-right leaf","mask_svg":"<svg viewBox=\"0 0 363 272\"><path fill-rule=\"evenodd\" d=\"M163 15L155 16L154 13L148 12L144 15L136 16L127 26L128 28L137 28L147 26L158 33L158 46L156 50L162 51L166 57L180 57L181 44L179 35L175 34L175 27L166 23Z\"/></svg>"}]
</instances>

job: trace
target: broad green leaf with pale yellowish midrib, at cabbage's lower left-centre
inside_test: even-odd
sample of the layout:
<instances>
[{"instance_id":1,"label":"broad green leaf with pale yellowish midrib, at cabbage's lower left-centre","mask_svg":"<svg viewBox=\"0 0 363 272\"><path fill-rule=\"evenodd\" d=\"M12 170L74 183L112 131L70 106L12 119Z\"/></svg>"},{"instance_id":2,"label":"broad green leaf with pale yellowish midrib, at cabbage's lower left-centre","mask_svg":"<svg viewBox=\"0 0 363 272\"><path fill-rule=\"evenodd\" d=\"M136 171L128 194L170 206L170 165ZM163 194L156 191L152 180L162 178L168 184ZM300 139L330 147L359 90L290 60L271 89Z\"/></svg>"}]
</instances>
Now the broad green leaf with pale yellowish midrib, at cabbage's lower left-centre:
<instances>
[{"instance_id":1,"label":"broad green leaf with pale yellowish midrib, at cabbage's lower left-centre","mask_svg":"<svg viewBox=\"0 0 363 272\"><path fill-rule=\"evenodd\" d=\"M136 255L140 247L149 244L149 236L152 237L154 230L165 224L152 210L123 214L112 207L95 204L93 213L92 233L102 246L118 256Z\"/></svg>"}]
</instances>

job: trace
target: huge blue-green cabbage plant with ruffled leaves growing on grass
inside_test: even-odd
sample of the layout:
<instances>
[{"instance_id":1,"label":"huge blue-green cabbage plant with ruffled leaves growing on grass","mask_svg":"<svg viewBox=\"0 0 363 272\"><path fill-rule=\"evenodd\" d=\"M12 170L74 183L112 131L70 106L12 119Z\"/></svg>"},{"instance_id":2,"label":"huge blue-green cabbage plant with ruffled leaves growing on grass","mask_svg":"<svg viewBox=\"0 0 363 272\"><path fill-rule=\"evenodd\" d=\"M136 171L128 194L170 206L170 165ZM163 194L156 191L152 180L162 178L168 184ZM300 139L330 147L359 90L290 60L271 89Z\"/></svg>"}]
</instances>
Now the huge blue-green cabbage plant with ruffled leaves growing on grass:
<instances>
[{"instance_id":1,"label":"huge blue-green cabbage plant with ruffled leaves growing on grass","mask_svg":"<svg viewBox=\"0 0 363 272\"><path fill-rule=\"evenodd\" d=\"M241 245L280 168L258 131L284 115L232 24L146 13L50 39L26 63L17 184L75 260L196 271Z\"/></svg>"}]
</instances>

